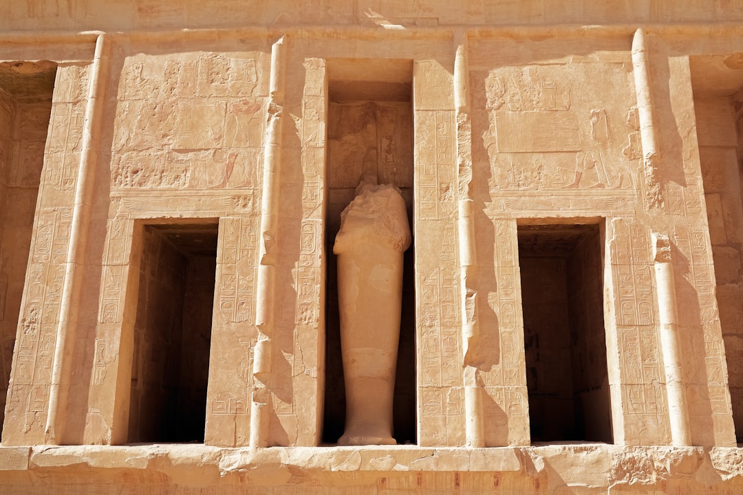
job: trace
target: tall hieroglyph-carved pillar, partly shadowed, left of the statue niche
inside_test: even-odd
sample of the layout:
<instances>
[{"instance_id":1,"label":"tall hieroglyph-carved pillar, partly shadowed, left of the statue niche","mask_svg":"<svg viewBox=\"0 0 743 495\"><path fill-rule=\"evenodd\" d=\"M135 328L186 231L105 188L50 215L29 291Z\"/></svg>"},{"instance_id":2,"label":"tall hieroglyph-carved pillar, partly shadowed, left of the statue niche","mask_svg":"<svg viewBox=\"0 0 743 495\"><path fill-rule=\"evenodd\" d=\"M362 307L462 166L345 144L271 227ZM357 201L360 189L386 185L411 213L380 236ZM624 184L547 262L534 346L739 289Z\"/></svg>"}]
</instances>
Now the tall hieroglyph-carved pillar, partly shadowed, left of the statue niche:
<instances>
[{"instance_id":1,"label":"tall hieroglyph-carved pillar, partly shadowed, left of the statue niche","mask_svg":"<svg viewBox=\"0 0 743 495\"><path fill-rule=\"evenodd\" d=\"M290 52L291 53L291 52ZM276 287L273 299L270 383L262 390L272 413L268 437L272 445L317 445L322 413L324 344L320 332L325 309L325 59L289 56L301 78L287 79L280 108L282 149L270 166L278 166L280 194ZM278 105L282 105L279 107ZM301 118L300 118L301 117ZM278 165L276 165L278 164ZM326 249L326 248L325 248ZM273 260L268 262L274 264ZM284 330L279 330L284 329Z\"/></svg>"}]
</instances>

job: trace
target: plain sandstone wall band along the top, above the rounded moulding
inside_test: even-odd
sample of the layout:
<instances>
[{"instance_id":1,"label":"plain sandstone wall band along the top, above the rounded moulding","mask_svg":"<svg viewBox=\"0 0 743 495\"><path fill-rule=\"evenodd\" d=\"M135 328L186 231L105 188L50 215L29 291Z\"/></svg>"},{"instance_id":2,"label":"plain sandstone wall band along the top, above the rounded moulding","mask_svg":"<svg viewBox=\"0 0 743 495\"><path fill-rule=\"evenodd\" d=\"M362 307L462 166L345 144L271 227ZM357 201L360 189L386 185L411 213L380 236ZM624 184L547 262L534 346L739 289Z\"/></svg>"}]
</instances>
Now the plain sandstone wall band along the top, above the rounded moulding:
<instances>
[{"instance_id":1,"label":"plain sandstone wall band along the top, above the rounded moulding","mask_svg":"<svg viewBox=\"0 0 743 495\"><path fill-rule=\"evenodd\" d=\"M1 7L3 30L65 29L108 30L169 27L234 27L244 25L403 24L410 27L457 25L510 26L524 24L649 24L683 22L740 22L743 13L734 1L626 0L619 4L551 0L466 0L446 4L437 0L292 0L204 4L186 0L167 4L158 0L136 2L110 0L30 0Z\"/></svg>"}]
</instances>

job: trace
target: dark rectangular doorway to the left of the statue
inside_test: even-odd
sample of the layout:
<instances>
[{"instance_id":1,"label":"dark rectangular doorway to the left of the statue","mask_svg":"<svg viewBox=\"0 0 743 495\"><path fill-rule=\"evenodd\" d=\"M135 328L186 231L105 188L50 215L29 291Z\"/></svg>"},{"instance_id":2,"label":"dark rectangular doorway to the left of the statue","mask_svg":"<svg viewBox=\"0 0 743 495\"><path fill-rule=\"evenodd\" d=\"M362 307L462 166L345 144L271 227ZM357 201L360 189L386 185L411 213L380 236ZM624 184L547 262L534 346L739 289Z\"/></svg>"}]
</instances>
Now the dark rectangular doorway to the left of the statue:
<instances>
[{"instance_id":1,"label":"dark rectangular doorway to the left of the statue","mask_svg":"<svg viewBox=\"0 0 743 495\"><path fill-rule=\"evenodd\" d=\"M217 223L143 226L129 442L204 442Z\"/></svg>"}]
</instances>

